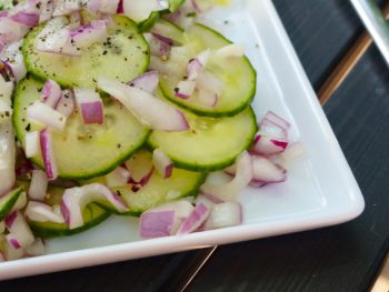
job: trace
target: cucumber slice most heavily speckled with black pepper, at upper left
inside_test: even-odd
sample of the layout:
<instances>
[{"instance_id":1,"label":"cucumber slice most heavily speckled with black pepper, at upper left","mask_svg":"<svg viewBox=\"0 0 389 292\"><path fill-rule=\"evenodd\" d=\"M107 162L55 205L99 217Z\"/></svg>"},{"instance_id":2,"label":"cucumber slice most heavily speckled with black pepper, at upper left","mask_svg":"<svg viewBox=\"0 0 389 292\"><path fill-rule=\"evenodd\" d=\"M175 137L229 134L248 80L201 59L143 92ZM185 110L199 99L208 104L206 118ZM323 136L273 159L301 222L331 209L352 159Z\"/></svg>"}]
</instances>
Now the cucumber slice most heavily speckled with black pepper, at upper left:
<instances>
[{"instance_id":1,"label":"cucumber slice most heavily speckled with black pepper, at upper left","mask_svg":"<svg viewBox=\"0 0 389 292\"><path fill-rule=\"evenodd\" d=\"M149 47L137 26L123 16L112 17L103 43L82 48L81 57L38 52L34 40L46 24L34 28L24 39L27 69L38 79L52 79L63 87L96 88L100 75L129 82L149 64Z\"/></svg>"}]
</instances>

